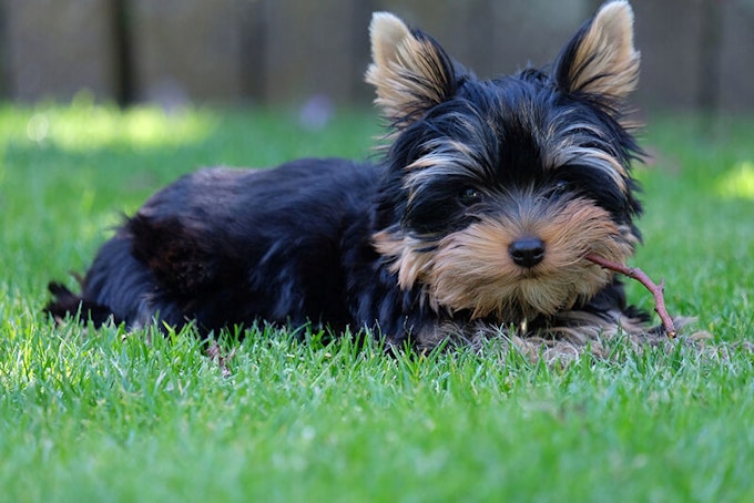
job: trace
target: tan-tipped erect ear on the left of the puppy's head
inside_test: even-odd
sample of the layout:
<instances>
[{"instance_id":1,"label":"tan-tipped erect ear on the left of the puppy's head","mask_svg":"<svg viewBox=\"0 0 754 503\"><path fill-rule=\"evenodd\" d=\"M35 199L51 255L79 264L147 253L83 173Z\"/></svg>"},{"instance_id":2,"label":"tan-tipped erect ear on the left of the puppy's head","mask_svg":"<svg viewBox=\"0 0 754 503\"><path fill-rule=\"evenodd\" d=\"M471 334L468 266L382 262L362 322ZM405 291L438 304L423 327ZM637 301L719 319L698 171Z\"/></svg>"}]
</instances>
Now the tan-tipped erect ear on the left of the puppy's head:
<instances>
[{"instance_id":1,"label":"tan-tipped erect ear on the left of the puppy's head","mask_svg":"<svg viewBox=\"0 0 754 503\"><path fill-rule=\"evenodd\" d=\"M410 124L455 93L452 62L430 37L388 12L373 14L369 34L373 62L366 81L377 89L375 103L395 125Z\"/></svg>"}]
</instances>

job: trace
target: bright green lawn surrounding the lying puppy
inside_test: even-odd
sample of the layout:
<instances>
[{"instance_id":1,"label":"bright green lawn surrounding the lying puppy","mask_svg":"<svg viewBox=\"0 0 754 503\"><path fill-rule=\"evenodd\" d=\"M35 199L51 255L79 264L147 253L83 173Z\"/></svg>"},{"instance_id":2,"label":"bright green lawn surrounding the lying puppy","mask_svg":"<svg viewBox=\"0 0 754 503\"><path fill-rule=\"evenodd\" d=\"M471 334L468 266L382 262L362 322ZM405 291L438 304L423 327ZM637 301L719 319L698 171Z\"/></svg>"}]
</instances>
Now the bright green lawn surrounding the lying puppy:
<instances>
[{"instance_id":1,"label":"bright green lawn surrounding the lying puppy","mask_svg":"<svg viewBox=\"0 0 754 503\"><path fill-rule=\"evenodd\" d=\"M190 335L53 327L50 278L84 270L121 212L202 165L364 157L371 113L307 131L287 111L0 107L3 501L752 501L754 117L701 135L651 120L645 246L679 347L547 367L251 329L230 377ZM641 287L632 301L651 307ZM232 346L231 342L228 342ZM227 348L230 351L230 348Z\"/></svg>"}]
</instances>

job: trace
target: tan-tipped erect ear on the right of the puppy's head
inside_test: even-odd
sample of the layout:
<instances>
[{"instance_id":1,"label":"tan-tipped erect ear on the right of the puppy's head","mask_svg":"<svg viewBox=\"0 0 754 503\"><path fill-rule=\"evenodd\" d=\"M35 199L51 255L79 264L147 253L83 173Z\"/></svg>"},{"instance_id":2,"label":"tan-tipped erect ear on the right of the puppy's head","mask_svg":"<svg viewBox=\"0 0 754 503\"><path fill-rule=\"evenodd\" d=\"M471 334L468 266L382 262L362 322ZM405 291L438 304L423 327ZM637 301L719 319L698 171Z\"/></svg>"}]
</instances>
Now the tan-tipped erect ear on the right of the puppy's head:
<instances>
[{"instance_id":1,"label":"tan-tipped erect ear on the right of the puppy's head","mask_svg":"<svg viewBox=\"0 0 754 503\"><path fill-rule=\"evenodd\" d=\"M553 76L564 92L622 102L636 88L639 60L633 47L633 10L625 0L612 1L566 45Z\"/></svg>"}]
</instances>

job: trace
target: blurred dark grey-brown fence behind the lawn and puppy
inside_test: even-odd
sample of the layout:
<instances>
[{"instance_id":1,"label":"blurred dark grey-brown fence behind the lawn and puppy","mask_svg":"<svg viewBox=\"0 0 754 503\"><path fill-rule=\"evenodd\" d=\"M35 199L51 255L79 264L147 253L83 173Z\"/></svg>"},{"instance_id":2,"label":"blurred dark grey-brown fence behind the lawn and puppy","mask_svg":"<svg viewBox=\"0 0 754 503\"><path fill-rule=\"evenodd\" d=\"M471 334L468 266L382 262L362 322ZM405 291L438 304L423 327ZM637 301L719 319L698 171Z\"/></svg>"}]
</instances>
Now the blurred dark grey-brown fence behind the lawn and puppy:
<instances>
[{"instance_id":1,"label":"blurred dark grey-brown fence behind the lawn and puppy","mask_svg":"<svg viewBox=\"0 0 754 503\"><path fill-rule=\"evenodd\" d=\"M0 0L0 93L367 103L370 12L482 76L549 62L599 0ZM634 0L642 105L754 110L754 0Z\"/></svg>"}]
</instances>

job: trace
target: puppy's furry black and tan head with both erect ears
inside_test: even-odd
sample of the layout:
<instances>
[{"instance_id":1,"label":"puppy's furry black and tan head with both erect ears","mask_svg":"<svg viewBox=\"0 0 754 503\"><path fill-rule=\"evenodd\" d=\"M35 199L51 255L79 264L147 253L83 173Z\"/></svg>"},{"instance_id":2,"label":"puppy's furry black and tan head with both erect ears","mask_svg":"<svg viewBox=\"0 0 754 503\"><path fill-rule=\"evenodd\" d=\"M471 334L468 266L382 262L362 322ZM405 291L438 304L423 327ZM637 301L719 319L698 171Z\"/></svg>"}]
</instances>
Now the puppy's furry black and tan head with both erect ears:
<instances>
[{"instance_id":1,"label":"puppy's furry black and tan head with both erect ears","mask_svg":"<svg viewBox=\"0 0 754 503\"><path fill-rule=\"evenodd\" d=\"M547 70L479 80L393 14L374 14L367 82L390 122L374 236L404 289L511 322L584 302L639 242L626 97L633 13L604 4Z\"/></svg>"}]
</instances>

